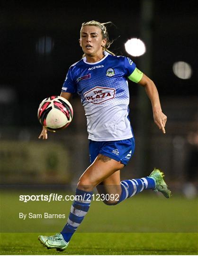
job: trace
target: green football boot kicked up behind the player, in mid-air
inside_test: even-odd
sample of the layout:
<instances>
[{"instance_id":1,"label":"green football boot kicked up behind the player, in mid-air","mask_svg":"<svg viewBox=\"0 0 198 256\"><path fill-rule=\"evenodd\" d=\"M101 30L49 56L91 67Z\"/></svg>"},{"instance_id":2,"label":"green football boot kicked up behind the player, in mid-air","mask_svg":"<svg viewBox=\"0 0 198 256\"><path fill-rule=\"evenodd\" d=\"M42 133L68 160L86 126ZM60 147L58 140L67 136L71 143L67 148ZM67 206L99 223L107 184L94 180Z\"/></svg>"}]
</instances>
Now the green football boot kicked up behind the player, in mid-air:
<instances>
[{"instance_id":1,"label":"green football boot kicked up behind the player, in mid-air","mask_svg":"<svg viewBox=\"0 0 198 256\"><path fill-rule=\"evenodd\" d=\"M154 169L149 177L152 178L155 182L155 188L153 189L154 192L159 191L162 192L166 198L171 197L171 191L168 189L168 186L163 179L164 174L160 170Z\"/></svg>"}]
</instances>

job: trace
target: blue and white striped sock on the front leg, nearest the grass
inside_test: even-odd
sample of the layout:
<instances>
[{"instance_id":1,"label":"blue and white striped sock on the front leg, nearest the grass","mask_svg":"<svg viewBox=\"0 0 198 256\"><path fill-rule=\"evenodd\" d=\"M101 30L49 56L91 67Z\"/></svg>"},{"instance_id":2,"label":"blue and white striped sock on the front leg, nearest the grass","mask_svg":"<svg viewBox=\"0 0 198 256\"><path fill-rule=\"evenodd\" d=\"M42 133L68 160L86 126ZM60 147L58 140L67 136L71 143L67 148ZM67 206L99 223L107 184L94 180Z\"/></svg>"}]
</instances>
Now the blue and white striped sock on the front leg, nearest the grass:
<instances>
[{"instance_id":1,"label":"blue and white striped sock on the front leg, nearest the grass","mask_svg":"<svg viewBox=\"0 0 198 256\"><path fill-rule=\"evenodd\" d=\"M61 234L66 242L69 242L73 233L81 224L84 216L87 214L90 208L91 196L93 192L86 192L80 189L76 189L75 201L72 203L70 215L67 219L67 223L64 226ZM78 196L80 196L78 198Z\"/></svg>"}]
</instances>

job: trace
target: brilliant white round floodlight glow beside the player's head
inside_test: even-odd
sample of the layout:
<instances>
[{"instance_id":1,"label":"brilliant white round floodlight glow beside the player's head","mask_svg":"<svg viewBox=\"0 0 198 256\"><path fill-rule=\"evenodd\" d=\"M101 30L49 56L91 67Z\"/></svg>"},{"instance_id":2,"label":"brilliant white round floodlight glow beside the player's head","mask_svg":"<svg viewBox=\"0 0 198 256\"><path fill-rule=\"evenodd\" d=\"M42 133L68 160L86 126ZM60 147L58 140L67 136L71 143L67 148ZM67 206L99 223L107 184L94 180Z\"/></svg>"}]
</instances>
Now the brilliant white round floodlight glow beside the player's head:
<instances>
[{"instance_id":1,"label":"brilliant white round floodlight glow beside the player's head","mask_svg":"<svg viewBox=\"0 0 198 256\"><path fill-rule=\"evenodd\" d=\"M146 47L142 40L131 38L125 43L126 52L132 56L141 56L145 53Z\"/></svg>"}]
</instances>

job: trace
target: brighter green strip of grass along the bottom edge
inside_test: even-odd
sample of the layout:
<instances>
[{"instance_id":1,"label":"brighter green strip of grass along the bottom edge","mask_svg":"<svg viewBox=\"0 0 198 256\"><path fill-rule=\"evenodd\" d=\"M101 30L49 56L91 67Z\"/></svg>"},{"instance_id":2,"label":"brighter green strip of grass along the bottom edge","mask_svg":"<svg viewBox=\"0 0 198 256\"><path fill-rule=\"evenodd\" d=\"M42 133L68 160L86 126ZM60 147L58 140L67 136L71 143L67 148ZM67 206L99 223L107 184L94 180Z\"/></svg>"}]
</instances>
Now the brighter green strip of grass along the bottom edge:
<instances>
[{"instance_id":1,"label":"brighter green strip of grass along the bottom edge","mask_svg":"<svg viewBox=\"0 0 198 256\"><path fill-rule=\"evenodd\" d=\"M76 233L63 252L48 250L38 233L1 234L1 255L197 255L195 233Z\"/></svg>"}]
</instances>

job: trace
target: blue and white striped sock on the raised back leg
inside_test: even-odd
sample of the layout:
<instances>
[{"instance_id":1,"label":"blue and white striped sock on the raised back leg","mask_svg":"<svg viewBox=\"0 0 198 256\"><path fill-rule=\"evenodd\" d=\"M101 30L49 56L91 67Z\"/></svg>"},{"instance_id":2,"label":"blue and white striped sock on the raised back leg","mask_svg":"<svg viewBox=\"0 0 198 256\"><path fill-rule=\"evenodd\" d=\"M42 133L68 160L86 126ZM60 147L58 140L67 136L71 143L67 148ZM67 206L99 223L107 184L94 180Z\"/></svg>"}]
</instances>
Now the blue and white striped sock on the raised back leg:
<instances>
[{"instance_id":1,"label":"blue and white striped sock on the raised back leg","mask_svg":"<svg viewBox=\"0 0 198 256\"><path fill-rule=\"evenodd\" d=\"M144 189L154 189L155 182L150 177L145 177L141 179L124 180L120 182L122 192L117 203L125 200L126 198L132 197Z\"/></svg>"}]
</instances>

